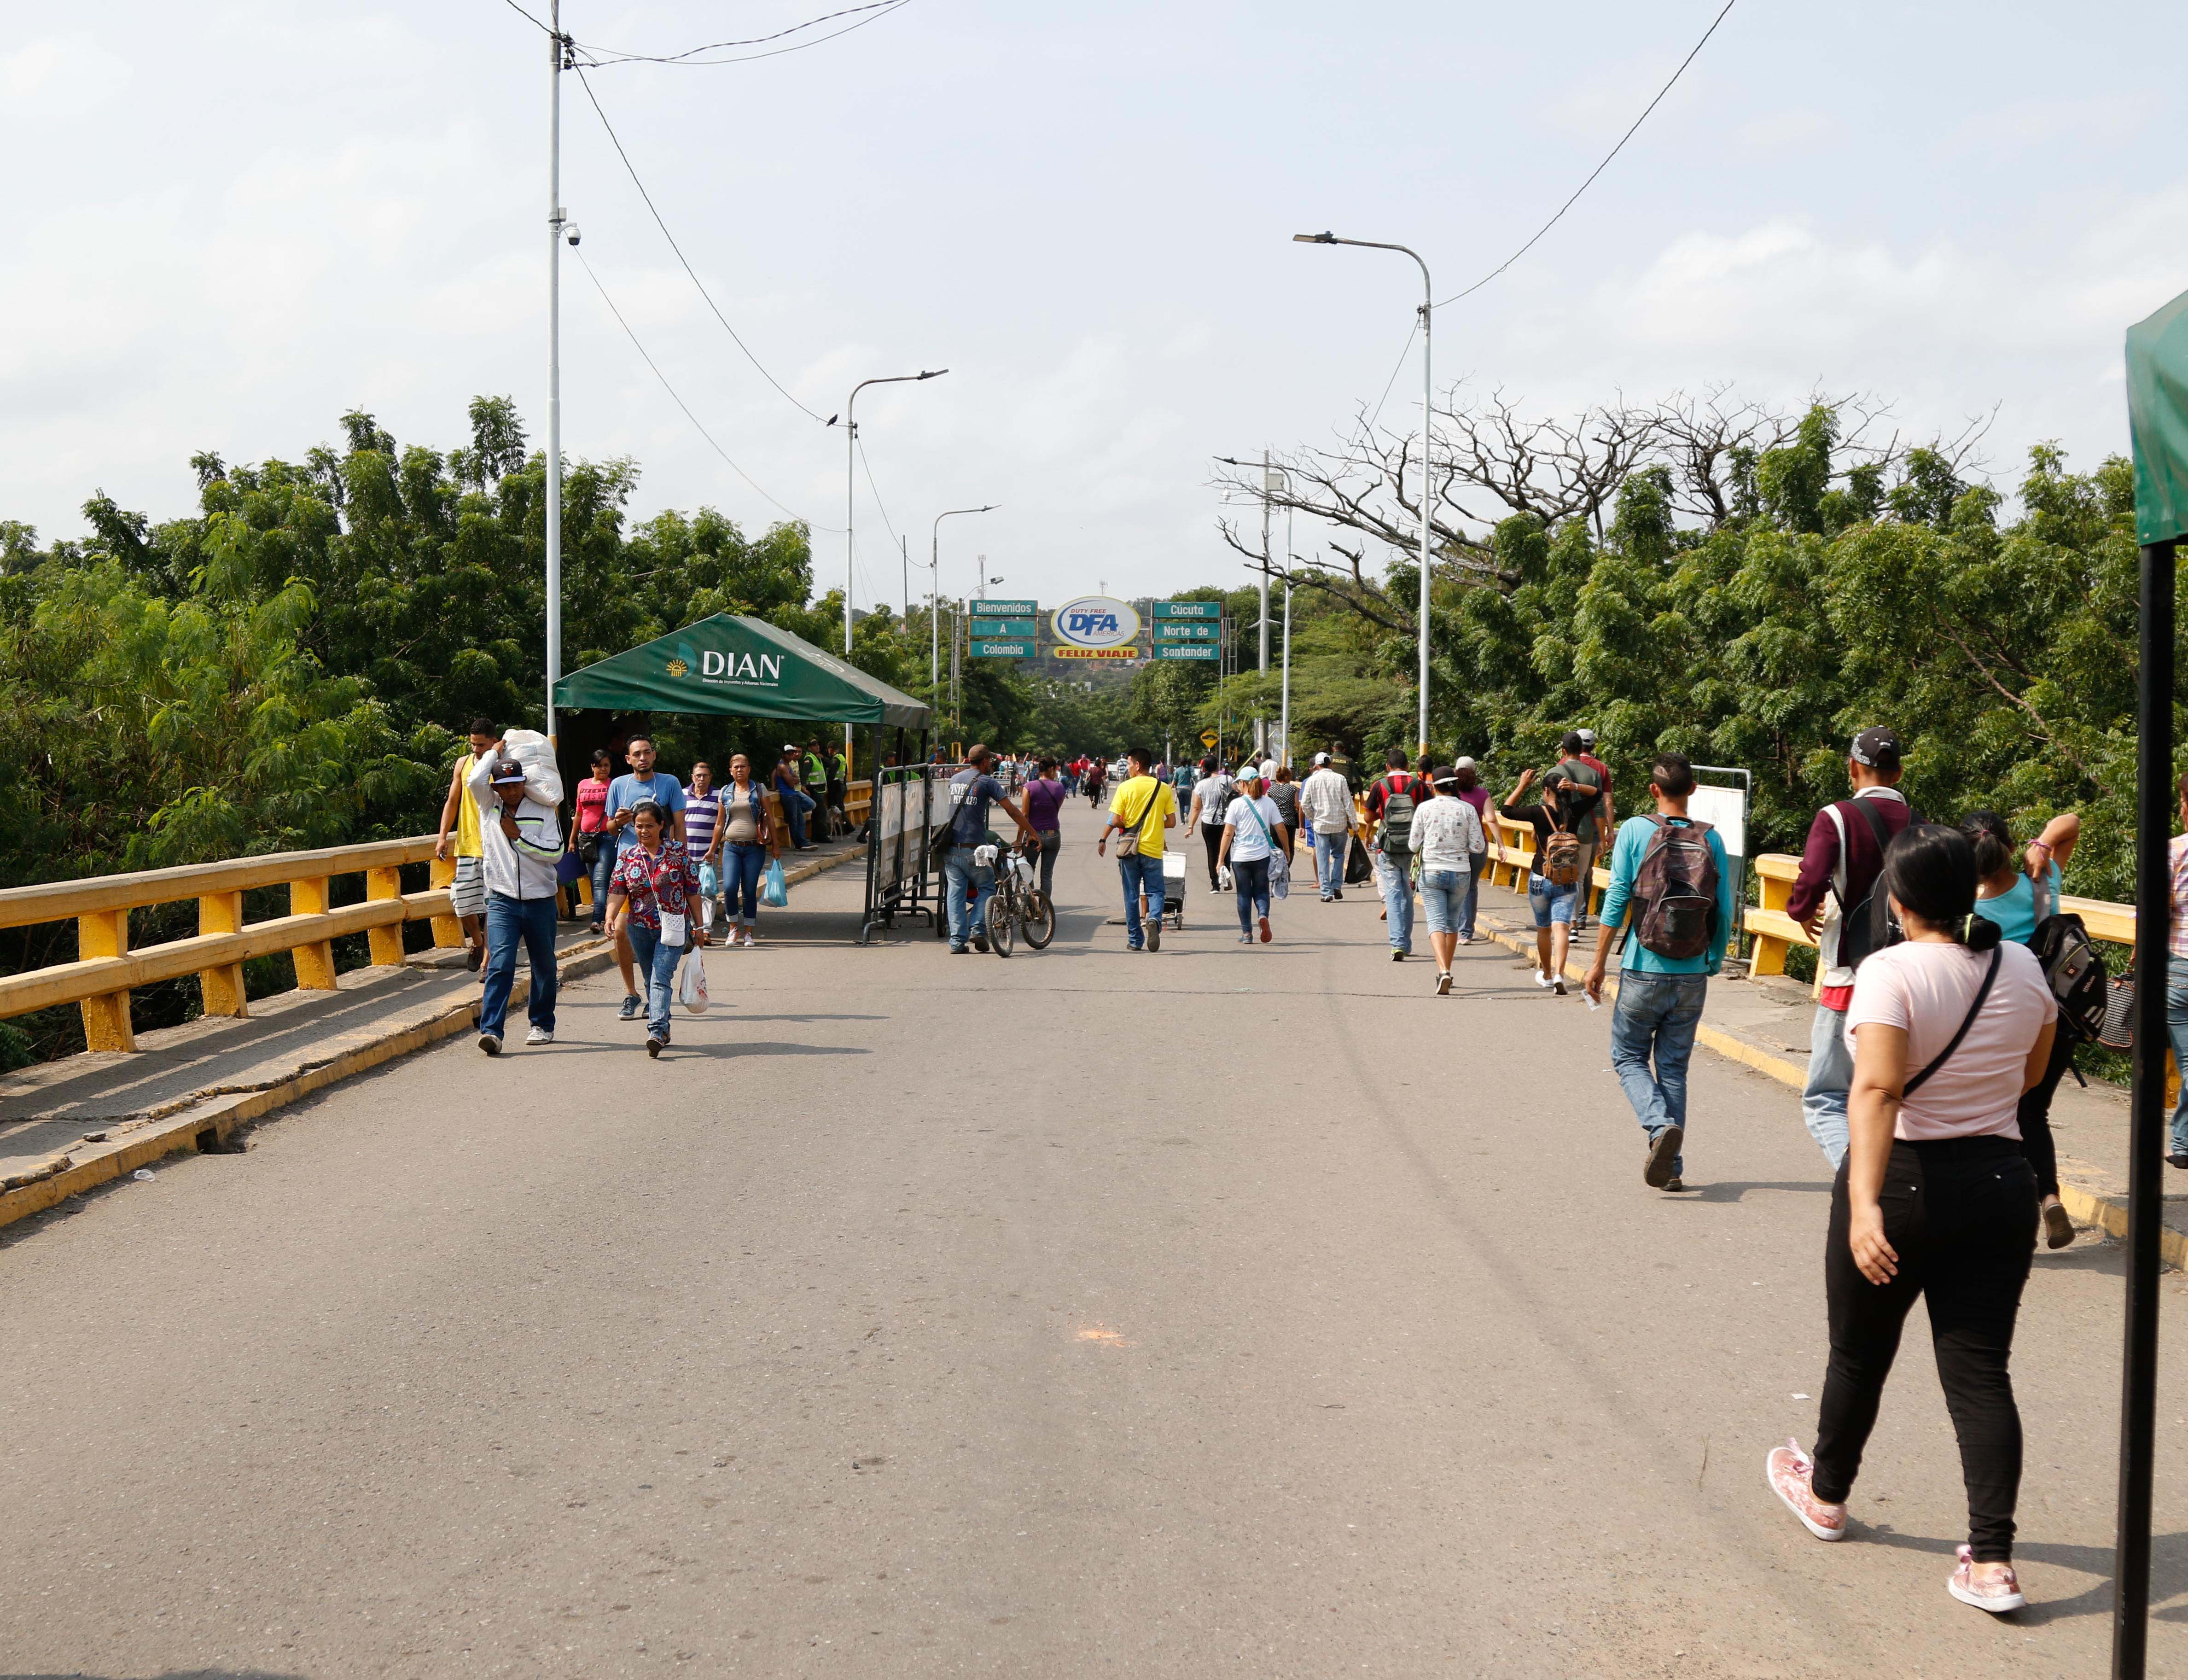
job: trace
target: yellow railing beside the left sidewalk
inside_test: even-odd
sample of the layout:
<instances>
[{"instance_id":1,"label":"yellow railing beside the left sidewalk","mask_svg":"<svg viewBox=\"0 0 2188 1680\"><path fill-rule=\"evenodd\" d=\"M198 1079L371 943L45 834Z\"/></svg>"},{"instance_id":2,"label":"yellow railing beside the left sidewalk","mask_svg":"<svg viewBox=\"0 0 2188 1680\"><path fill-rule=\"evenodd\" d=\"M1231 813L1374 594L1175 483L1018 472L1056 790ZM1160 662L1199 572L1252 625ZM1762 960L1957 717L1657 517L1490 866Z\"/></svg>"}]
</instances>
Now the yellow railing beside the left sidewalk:
<instances>
[{"instance_id":1,"label":"yellow railing beside the left sidewalk","mask_svg":"<svg viewBox=\"0 0 2188 1680\"><path fill-rule=\"evenodd\" d=\"M405 921L431 921L435 945L462 945L462 925L449 910L446 892L455 864L433 862L433 886L405 892L400 868L420 862L433 862L433 836L0 890L0 928L77 923L74 962L0 976L0 1017L79 1004L88 1050L136 1050L129 1030L129 993L136 987L195 973L206 1015L249 1015L243 965L254 956L291 952L300 991L333 991L333 941L346 934L365 934L374 965L403 962ZM359 873L365 877L363 903L335 908L333 879ZM289 888L289 914L243 921L243 895L265 886ZM197 899L193 938L131 949L131 910L184 899Z\"/></svg>"}]
</instances>

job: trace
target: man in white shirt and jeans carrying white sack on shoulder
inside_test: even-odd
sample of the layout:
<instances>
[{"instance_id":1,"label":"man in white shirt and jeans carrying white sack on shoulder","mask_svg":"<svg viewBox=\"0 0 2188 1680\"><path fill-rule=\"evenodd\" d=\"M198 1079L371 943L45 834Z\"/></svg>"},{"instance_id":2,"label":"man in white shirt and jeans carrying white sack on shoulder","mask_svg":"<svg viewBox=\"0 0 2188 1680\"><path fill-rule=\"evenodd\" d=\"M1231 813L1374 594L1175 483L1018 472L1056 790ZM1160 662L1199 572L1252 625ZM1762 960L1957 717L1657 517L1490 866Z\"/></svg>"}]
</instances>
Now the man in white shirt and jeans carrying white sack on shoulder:
<instances>
[{"instance_id":1,"label":"man in white shirt and jeans carrying white sack on shoulder","mask_svg":"<svg viewBox=\"0 0 2188 1680\"><path fill-rule=\"evenodd\" d=\"M545 788L527 783L516 759L479 757L470 770L470 798L479 807L486 871L486 991L479 998L479 1048L501 1054L501 1026L516 984L516 943L532 962L525 1043L554 1043L556 895L562 882L562 822Z\"/></svg>"}]
</instances>

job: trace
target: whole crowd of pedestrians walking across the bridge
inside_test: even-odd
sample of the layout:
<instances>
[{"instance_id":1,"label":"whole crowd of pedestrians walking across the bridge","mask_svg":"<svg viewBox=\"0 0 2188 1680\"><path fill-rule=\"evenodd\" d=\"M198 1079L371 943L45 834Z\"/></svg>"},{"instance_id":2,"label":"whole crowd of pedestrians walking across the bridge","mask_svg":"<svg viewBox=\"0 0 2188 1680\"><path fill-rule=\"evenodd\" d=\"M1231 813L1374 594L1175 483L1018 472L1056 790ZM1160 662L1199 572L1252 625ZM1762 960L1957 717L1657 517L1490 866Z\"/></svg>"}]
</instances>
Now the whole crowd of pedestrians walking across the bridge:
<instances>
[{"instance_id":1,"label":"whole crowd of pedestrians walking across the bridge","mask_svg":"<svg viewBox=\"0 0 2188 1680\"><path fill-rule=\"evenodd\" d=\"M1578 960L1588 1008L1610 1002L1610 1070L1641 1133L1641 1181L1676 1194L1687 1188L1689 1063L1742 910L1724 836L1689 812L1696 768L1669 750L1634 759L1628 788L1645 788L1645 798L1621 818L1595 748L1593 733L1569 731L1551 763L1523 770L1492 801L1475 759L1413 763L1400 748L1354 790L1330 752L1315 752L1295 781L1289 763L1252 755L1171 766L1131 748L1109 763L976 744L943 783L932 838L950 952L991 943L989 903L1009 851L993 814L1017 829L1026 895L1052 903L1074 794L1103 816L1094 853L1116 858L1129 952L1160 954L1164 921L1182 928L1192 873L1210 895L1230 895L1241 945L1276 943L1304 833L1322 903L1376 884L1392 962L1416 956L1418 908L1435 995L1451 995L1457 954L1483 941L1490 858L1523 855L1534 984L1567 995ZM565 840L551 755L523 750L488 720L470 728L438 849L453 849L451 908L470 965L484 967L488 1054L501 1052L519 947L532 965L527 1043L554 1041L554 901L571 873L589 873L593 930L615 938L621 1017L643 1015L648 1052L661 1054L678 962L709 943L718 903L729 943L757 943L757 888L781 853L764 792L779 796L794 849L845 825L847 766L821 742L785 746L766 785L744 755L722 783L707 763L683 783L656 768L645 735L624 759L628 770L610 774L610 757L593 757ZM1995 812L1923 820L1899 790L1904 759L1888 726L1853 735L1847 796L1816 809L1785 903L1816 945L1801 1113L1834 1175L1829 1358L1812 1450L1785 1442L1764 1470L1809 1533L1844 1538L1901 1328L1921 1299L1967 1485L1967 1542L1947 1588L1998 1612L2024 1603L2013 1571L2024 1459L2009 1376L2015 1317L2037 1240L2074 1240L2050 1107L2074 1046L2100 1032L2105 971L2094 967L2092 993L2085 930L2063 906L2079 816L2052 816L2026 842ZM2179 794L2170 949L2188 958L2188 777ZM1527 836L1518 853L1497 849L1499 820ZM1597 886L1595 938L1575 952ZM2188 978L2173 982L2168 1022L2175 1052L2188 1057ZM2188 1168L2188 1092L2168 1159Z\"/></svg>"}]
</instances>

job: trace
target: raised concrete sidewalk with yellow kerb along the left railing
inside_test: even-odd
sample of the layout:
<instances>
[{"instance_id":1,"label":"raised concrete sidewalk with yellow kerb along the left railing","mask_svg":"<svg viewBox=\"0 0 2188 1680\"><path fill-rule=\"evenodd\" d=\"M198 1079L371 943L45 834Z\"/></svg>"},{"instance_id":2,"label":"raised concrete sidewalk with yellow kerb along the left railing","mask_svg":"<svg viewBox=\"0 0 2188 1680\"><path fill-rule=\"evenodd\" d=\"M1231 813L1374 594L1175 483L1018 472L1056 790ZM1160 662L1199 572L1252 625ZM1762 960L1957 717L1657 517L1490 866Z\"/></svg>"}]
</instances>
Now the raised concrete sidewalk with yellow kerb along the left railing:
<instances>
[{"instance_id":1,"label":"raised concrete sidewalk with yellow kerb along the left railing","mask_svg":"<svg viewBox=\"0 0 2188 1680\"><path fill-rule=\"evenodd\" d=\"M783 873L796 886L864 855L864 842L836 840ZM582 921L560 925L556 952L565 982L615 960ZM527 995L519 962L510 993L519 1028ZM477 1019L479 976L464 952L431 949L403 967L352 969L335 991L256 998L247 1019L199 1017L142 1032L129 1052L85 1052L0 1076L0 1225L162 1155L219 1151L236 1127L468 1032Z\"/></svg>"}]
</instances>

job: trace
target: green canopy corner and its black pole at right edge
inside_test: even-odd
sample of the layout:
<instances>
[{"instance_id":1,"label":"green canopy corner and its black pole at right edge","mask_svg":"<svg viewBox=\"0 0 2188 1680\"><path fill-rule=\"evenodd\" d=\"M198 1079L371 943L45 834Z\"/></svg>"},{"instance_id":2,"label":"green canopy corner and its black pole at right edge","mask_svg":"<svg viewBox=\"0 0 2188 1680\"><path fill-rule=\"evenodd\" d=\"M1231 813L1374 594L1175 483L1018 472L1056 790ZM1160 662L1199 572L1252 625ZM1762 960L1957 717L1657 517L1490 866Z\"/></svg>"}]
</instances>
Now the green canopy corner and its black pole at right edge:
<instances>
[{"instance_id":1,"label":"green canopy corner and its black pole at right edge","mask_svg":"<svg viewBox=\"0 0 2188 1680\"><path fill-rule=\"evenodd\" d=\"M2142 1676L2151 1619L2157 1234L2164 1225L2175 538L2188 532L2188 293L2127 328L2127 424L2135 453L2142 634L2135 672L2135 1074L2127 1133L2127 1358L2111 1671Z\"/></svg>"}]
</instances>

